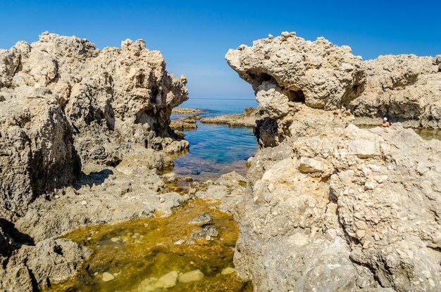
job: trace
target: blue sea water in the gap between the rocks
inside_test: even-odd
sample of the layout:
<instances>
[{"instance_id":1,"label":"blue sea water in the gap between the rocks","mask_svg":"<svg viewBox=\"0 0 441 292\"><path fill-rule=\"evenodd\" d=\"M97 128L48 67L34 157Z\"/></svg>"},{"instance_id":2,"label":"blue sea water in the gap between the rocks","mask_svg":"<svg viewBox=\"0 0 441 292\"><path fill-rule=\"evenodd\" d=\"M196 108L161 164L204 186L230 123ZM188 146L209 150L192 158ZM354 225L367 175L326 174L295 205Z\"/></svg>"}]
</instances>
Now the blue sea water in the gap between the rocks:
<instances>
[{"instance_id":1,"label":"blue sea water in the gap between the rocks","mask_svg":"<svg viewBox=\"0 0 441 292\"><path fill-rule=\"evenodd\" d=\"M200 108L201 117L242 113L244 108L256 107L256 101L247 99L190 99L180 108ZM172 120L186 115L173 114ZM203 124L197 129L184 131L190 142L190 151L175 159L173 172L194 180L216 179L233 170L245 174L247 159L257 150L257 141L251 128L228 125Z\"/></svg>"}]
</instances>

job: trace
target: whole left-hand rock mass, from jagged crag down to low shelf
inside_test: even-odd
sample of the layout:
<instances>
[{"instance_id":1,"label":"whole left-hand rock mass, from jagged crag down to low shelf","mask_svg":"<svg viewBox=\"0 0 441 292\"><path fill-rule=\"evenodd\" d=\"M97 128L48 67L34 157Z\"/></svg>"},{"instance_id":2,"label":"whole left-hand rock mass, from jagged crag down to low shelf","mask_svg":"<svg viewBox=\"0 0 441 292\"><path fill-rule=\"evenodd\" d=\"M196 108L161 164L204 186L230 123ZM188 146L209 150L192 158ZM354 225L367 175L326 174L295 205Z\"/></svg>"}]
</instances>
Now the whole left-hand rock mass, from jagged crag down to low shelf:
<instances>
[{"instance_id":1,"label":"whole left-hand rock mass, from jagged crag down to low shelf","mask_svg":"<svg viewBox=\"0 0 441 292\"><path fill-rule=\"evenodd\" d=\"M169 127L186 82L142 40L44 32L0 50L0 291L75 277L91 250L58 236L187 201L159 174L188 147Z\"/></svg>"}]
</instances>

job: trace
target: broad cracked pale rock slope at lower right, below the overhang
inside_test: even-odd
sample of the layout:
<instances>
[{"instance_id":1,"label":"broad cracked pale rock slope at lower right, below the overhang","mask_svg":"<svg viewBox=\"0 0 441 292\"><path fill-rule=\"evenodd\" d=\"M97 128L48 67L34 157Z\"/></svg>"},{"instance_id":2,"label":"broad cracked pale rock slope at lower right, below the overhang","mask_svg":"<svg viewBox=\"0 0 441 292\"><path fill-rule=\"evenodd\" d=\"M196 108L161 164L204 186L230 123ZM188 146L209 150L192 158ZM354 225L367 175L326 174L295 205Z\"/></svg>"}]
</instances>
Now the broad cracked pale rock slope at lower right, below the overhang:
<instances>
[{"instance_id":1,"label":"broad cracked pale rock slope at lower right, below the overhang","mask_svg":"<svg viewBox=\"0 0 441 292\"><path fill-rule=\"evenodd\" d=\"M398 125L263 149L238 207L237 272L256 291L440 290L440 149Z\"/></svg>"}]
</instances>

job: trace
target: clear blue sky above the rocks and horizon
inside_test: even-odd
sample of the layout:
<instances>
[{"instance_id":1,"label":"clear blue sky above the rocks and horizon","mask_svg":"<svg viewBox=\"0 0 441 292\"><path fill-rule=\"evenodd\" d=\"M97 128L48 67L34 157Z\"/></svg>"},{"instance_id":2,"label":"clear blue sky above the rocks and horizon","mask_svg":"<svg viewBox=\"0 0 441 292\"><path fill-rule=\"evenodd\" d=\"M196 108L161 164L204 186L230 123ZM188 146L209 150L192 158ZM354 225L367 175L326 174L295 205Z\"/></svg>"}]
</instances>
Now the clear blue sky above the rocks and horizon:
<instances>
[{"instance_id":1,"label":"clear blue sky above the rocks and horizon","mask_svg":"<svg viewBox=\"0 0 441 292\"><path fill-rule=\"evenodd\" d=\"M41 32L85 37L99 48L144 39L168 70L185 74L190 98L253 99L225 53L254 39L295 31L347 44L364 59L441 53L441 1L3 1L0 48Z\"/></svg>"}]
</instances>

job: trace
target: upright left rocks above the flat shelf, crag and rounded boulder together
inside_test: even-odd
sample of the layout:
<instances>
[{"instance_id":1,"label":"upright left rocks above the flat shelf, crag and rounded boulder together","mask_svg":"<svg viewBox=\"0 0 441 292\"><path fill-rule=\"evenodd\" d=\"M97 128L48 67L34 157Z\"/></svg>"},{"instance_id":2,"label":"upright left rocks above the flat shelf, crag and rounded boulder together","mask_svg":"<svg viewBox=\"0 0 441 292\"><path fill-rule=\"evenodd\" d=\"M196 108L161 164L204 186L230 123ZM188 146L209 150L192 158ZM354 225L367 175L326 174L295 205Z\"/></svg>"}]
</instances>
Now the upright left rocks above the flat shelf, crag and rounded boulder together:
<instances>
[{"instance_id":1,"label":"upright left rocks above the flat shelf, crag and rounded boulder together","mask_svg":"<svg viewBox=\"0 0 441 292\"><path fill-rule=\"evenodd\" d=\"M40 194L73 182L81 163L116 165L137 146L187 148L169 128L186 82L141 39L99 50L44 32L0 50L0 208L23 215Z\"/></svg>"}]
</instances>

